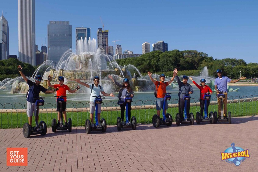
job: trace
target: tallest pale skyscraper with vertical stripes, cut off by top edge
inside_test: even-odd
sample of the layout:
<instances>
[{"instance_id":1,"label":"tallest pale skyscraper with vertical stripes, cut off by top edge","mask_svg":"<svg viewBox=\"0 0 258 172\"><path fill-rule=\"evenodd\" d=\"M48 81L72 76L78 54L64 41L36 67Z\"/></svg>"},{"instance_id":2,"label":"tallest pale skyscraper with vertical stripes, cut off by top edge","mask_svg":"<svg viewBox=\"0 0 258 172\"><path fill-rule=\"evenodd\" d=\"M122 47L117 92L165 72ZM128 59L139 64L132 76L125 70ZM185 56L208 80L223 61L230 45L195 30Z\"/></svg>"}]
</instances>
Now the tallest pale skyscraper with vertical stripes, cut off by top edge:
<instances>
[{"instance_id":1,"label":"tallest pale skyscraper with vertical stripes, cut off by top edge","mask_svg":"<svg viewBox=\"0 0 258 172\"><path fill-rule=\"evenodd\" d=\"M18 0L19 60L36 65L35 0Z\"/></svg>"}]
</instances>

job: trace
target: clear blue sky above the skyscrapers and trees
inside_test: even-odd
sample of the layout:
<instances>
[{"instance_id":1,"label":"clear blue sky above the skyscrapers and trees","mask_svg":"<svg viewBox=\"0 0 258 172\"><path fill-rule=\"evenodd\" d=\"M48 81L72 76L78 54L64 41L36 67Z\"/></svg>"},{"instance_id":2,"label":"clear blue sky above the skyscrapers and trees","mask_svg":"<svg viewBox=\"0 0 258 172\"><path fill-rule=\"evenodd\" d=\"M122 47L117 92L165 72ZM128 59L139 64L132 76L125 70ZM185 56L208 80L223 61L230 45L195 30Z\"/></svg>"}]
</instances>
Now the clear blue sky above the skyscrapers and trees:
<instances>
[{"instance_id":1,"label":"clear blue sky above the skyscrapers and trees","mask_svg":"<svg viewBox=\"0 0 258 172\"><path fill-rule=\"evenodd\" d=\"M142 44L164 40L168 50L197 50L217 59L238 58L258 63L258 1L85 1L36 0L36 44L47 44L50 20L70 21L72 48L75 27L90 27L97 39L109 30L109 45L121 40L122 50L142 53ZM9 23L10 54L18 54L18 1L1 0Z\"/></svg>"}]
</instances>

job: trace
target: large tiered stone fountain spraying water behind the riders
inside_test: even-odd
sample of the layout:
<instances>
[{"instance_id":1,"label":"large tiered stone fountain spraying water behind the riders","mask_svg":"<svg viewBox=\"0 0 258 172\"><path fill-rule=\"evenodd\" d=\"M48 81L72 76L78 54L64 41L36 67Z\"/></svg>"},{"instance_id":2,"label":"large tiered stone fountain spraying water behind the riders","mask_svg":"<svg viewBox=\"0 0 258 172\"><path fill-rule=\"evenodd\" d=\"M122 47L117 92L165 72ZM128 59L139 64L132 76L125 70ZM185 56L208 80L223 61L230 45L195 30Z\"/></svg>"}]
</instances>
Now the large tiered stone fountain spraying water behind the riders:
<instances>
[{"instance_id":1,"label":"large tiered stone fountain spraying water behind the riders","mask_svg":"<svg viewBox=\"0 0 258 172\"><path fill-rule=\"evenodd\" d=\"M28 79L33 80L40 68L49 66L44 72L42 76L43 82L41 82L41 85L47 89L51 89L47 86L48 75L52 76L52 84L58 84L58 76L63 76L65 78L64 83L70 88L75 88L78 85L75 79L80 79L83 82L92 84L94 76L99 76L100 85L105 88L106 92L117 92L117 86L114 86L113 81L108 78L108 75L113 75L118 82L122 82L123 78L128 78L133 87L133 91L154 89L151 81L142 78L136 67L133 65L121 67L113 57L108 54L100 53L100 49L97 48L96 39L89 39L88 41L87 39L80 39L77 45L78 49L76 53L73 53L72 50L66 51L57 65L49 60L45 61L34 72L33 76ZM138 72L140 76L139 80L136 78L136 74L131 75L130 69ZM22 82L22 79L17 79L12 84L11 93L26 93L28 89L29 87L26 82ZM81 87L80 92L86 93L88 89Z\"/></svg>"}]
</instances>

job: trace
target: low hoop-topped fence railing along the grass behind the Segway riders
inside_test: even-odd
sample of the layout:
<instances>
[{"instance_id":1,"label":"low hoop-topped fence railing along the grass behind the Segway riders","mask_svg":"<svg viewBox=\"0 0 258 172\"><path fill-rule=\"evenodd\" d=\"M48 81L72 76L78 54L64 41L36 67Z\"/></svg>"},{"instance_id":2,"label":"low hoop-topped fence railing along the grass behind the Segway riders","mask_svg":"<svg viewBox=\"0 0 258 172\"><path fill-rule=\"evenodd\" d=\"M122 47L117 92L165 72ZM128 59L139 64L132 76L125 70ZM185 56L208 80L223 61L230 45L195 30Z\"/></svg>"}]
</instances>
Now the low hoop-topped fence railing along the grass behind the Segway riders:
<instances>
[{"instance_id":1,"label":"low hoop-topped fence railing along the grass behind the Segway riders","mask_svg":"<svg viewBox=\"0 0 258 172\"><path fill-rule=\"evenodd\" d=\"M232 117L255 115L258 113L256 108L258 95L243 96L243 97L228 97L228 111L231 111ZM197 111L200 112L199 99L191 99L190 112L195 115ZM21 128L27 122L26 105L20 103L5 103L0 104L1 111L1 125L0 128ZM115 125L116 119L120 116L120 106L117 102L109 101L102 103L101 118L104 117L108 125ZM210 100L209 111L217 111L217 98ZM67 118L72 118L73 126L84 126L85 120L89 119L89 102L83 104L78 102L76 104L67 103L66 105ZM178 99L169 101L167 113L170 113L175 119L178 113ZM156 101L152 100L138 100L132 103L131 116L135 116L137 123L151 123L152 116L156 114ZM39 119L51 126L53 118L57 118L56 104L46 103L40 107ZM34 121L34 120L33 120Z\"/></svg>"}]
</instances>

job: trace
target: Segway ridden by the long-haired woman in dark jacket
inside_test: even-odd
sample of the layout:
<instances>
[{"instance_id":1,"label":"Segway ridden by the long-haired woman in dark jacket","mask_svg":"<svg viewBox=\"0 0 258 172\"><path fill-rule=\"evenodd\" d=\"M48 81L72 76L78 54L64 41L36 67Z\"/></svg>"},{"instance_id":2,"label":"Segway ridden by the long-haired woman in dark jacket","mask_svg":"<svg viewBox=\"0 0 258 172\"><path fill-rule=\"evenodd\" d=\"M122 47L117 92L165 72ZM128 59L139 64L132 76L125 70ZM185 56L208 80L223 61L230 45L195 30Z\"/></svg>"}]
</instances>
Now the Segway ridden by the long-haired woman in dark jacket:
<instances>
[{"instance_id":1,"label":"Segway ridden by the long-haired woman in dark jacket","mask_svg":"<svg viewBox=\"0 0 258 172\"><path fill-rule=\"evenodd\" d=\"M129 120L128 120L128 104L132 102L132 97L131 94L127 94L125 96L125 103L126 103L126 110L125 110L125 119L126 119L126 123L122 124L122 120L120 117L117 117L116 120L116 126L117 126L117 130L120 131L121 128L132 128L133 130L136 129L136 118L135 116L133 116L131 118L131 125L129 125Z\"/></svg>"}]
</instances>

